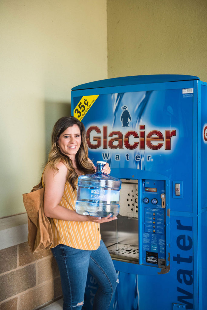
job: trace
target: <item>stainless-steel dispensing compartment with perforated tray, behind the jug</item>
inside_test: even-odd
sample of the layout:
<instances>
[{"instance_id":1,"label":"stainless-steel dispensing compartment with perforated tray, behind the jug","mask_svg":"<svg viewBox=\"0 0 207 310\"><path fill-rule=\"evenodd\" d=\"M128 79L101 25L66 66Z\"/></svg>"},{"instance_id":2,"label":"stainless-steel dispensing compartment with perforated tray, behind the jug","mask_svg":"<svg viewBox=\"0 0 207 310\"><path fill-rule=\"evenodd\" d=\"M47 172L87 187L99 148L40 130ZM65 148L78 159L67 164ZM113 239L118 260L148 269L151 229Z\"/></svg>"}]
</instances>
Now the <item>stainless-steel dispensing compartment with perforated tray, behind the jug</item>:
<instances>
[{"instance_id":1,"label":"stainless-steel dispensing compartment with perforated tray, behind the jug","mask_svg":"<svg viewBox=\"0 0 207 310\"><path fill-rule=\"evenodd\" d=\"M117 220L101 224L101 236L113 259L138 263L138 180L121 179L119 205Z\"/></svg>"}]
</instances>

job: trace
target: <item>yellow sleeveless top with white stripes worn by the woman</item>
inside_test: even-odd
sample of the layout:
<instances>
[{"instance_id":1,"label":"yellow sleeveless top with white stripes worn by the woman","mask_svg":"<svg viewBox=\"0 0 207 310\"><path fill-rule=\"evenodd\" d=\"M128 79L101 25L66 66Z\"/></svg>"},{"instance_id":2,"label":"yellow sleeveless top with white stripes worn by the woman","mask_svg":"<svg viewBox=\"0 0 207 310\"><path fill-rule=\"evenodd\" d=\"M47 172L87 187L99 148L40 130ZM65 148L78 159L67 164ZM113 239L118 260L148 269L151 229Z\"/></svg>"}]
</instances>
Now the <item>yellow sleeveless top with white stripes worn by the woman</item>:
<instances>
[{"instance_id":1,"label":"yellow sleeveless top with white stripes worn by the woman","mask_svg":"<svg viewBox=\"0 0 207 310\"><path fill-rule=\"evenodd\" d=\"M42 186L45 187L43 180ZM75 211L76 196L77 191L73 191L72 186L67 182L59 205ZM96 250L100 246L101 235L98 223L64 221L52 218L50 221L53 232L53 243L50 248L64 244L80 250Z\"/></svg>"}]
</instances>

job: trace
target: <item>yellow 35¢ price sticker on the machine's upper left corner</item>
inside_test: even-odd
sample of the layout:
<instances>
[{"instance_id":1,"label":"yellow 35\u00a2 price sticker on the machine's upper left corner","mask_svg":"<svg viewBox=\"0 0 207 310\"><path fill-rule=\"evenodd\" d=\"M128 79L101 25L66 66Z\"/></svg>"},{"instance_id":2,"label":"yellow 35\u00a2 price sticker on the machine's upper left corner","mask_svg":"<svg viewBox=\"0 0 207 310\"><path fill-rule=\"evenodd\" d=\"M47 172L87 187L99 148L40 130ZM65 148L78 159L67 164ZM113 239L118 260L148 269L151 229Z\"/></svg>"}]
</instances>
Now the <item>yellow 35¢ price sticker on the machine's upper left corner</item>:
<instances>
[{"instance_id":1,"label":"yellow 35\u00a2 price sticker on the machine's upper left corner","mask_svg":"<svg viewBox=\"0 0 207 310\"><path fill-rule=\"evenodd\" d=\"M98 96L99 95L83 96L73 110L74 117L79 119L79 121L82 121L83 117L92 107Z\"/></svg>"}]
</instances>

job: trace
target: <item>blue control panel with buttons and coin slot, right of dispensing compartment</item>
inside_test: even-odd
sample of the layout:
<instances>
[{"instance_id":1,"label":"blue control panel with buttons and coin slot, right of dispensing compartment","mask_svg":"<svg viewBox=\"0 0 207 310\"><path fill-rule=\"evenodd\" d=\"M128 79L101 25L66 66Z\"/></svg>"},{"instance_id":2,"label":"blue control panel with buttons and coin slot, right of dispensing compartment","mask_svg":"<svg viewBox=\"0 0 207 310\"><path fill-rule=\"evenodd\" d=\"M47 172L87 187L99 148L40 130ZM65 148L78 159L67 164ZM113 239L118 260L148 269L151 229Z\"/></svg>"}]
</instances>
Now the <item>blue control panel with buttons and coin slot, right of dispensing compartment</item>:
<instances>
[{"instance_id":1,"label":"blue control panel with buttons and coin slot, right of dispensing compartment","mask_svg":"<svg viewBox=\"0 0 207 310\"><path fill-rule=\"evenodd\" d=\"M165 181L142 180L142 197L144 219L142 232L143 263L146 262L147 265L166 268L165 263L163 263L166 261ZM151 254L147 255L146 253ZM154 257L157 258L156 261Z\"/></svg>"}]
</instances>

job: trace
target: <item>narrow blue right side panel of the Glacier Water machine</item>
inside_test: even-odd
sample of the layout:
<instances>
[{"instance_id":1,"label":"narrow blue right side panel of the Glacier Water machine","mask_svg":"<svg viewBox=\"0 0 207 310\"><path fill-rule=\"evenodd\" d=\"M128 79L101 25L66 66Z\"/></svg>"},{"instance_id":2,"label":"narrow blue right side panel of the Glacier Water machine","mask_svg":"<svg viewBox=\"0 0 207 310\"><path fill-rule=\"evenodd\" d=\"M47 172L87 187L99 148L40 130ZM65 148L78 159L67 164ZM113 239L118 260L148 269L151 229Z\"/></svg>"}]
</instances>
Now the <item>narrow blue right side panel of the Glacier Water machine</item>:
<instances>
[{"instance_id":1,"label":"narrow blue right side panel of the Glacier Water machine","mask_svg":"<svg viewBox=\"0 0 207 310\"><path fill-rule=\"evenodd\" d=\"M198 96L198 281L199 309L207 308L207 85L199 82Z\"/></svg>"}]
</instances>

